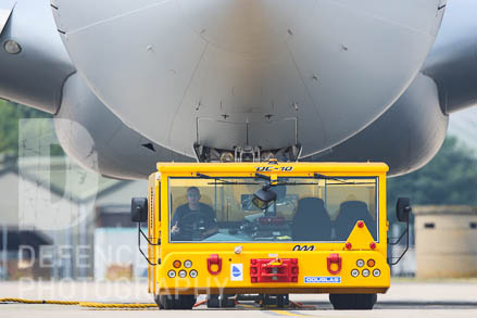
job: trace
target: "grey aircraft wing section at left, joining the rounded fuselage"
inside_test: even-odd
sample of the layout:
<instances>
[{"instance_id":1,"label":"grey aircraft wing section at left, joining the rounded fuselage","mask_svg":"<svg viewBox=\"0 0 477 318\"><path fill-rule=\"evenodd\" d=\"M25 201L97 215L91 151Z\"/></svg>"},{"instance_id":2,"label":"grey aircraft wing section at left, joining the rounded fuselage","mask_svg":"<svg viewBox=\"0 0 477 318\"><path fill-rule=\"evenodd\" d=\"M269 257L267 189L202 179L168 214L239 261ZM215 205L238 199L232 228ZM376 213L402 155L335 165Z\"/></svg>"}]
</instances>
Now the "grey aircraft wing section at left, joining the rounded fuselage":
<instances>
[{"instance_id":1,"label":"grey aircraft wing section at left, joining the rounded fuselage","mask_svg":"<svg viewBox=\"0 0 477 318\"><path fill-rule=\"evenodd\" d=\"M75 72L64 49L51 9L45 0L18 0L1 34L0 97L54 114L61 103L62 86ZM0 9L12 1L0 1ZM9 54L8 40L22 51Z\"/></svg>"}]
</instances>

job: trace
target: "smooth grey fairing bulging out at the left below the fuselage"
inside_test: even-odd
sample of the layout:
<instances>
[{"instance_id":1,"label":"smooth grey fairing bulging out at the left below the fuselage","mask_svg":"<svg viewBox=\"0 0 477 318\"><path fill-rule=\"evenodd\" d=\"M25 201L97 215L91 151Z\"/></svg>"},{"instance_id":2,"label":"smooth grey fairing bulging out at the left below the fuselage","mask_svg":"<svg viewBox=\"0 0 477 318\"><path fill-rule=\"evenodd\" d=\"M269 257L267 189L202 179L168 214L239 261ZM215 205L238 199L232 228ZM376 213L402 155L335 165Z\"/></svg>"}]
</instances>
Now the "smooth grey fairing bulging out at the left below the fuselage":
<instances>
[{"instance_id":1,"label":"smooth grey fairing bulging out at the left below the fuselage","mask_svg":"<svg viewBox=\"0 0 477 318\"><path fill-rule=\"evenodd\" d=\"M147 178L159 161L193 161L127 128L77 74L63 88L54 128L64 151L85 168L120 179ZM95 160L90 160L95 156Z\"/></svg>"}]
</instances>

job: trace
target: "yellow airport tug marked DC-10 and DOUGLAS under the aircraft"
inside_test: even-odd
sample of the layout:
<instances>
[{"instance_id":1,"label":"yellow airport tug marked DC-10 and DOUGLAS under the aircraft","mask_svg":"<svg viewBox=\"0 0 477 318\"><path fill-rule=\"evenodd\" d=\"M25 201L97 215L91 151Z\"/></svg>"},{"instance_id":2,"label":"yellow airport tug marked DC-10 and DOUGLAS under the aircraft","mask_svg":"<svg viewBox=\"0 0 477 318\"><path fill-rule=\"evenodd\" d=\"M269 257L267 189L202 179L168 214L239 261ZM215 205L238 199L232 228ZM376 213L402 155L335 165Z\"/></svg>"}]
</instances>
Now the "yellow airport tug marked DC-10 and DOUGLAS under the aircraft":
<instances>
[{"instance_id":1,"label":"yellow airport tug marked DC-10 and DOUGLAS under the aircraft","mask_svg":"<svg viewBox=\"0 0 477 318\"><path fill-rule=\"evenodd\" d=\"M139 249L149 292L165 309L190 309L200 294L209 307L287 306L290 293L329 293L336 309L373 308L390 285L387 170L381 163L159 163L149 198L131 202L139 244L141 236L148 242L147 253ZM400 199L398 219L409 224L410 211Z\"/></svg>"}]
</instances>

